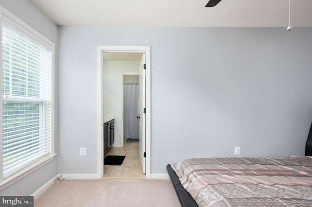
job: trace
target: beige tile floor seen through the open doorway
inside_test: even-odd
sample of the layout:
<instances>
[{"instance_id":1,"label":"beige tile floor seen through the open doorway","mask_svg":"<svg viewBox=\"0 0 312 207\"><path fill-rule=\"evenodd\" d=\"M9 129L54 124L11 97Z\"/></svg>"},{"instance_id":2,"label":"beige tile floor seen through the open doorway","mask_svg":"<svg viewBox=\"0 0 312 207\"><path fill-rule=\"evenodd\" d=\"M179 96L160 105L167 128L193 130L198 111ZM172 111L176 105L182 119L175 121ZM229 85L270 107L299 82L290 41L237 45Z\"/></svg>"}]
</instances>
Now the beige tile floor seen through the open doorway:
<instances>
[{"instance_id":1,"label":"beige tile floor seen through the open doorway","mask_svg":"<svg viewBox=\"0 0 312 207\"><path fill-rule=\"evenodd\" d=\"M126 142L123 147L111 147L107 155L125 155L122 165L104 165L103 177L146 177L139 161L139 143Z\"/></svg>"}]
</instances>

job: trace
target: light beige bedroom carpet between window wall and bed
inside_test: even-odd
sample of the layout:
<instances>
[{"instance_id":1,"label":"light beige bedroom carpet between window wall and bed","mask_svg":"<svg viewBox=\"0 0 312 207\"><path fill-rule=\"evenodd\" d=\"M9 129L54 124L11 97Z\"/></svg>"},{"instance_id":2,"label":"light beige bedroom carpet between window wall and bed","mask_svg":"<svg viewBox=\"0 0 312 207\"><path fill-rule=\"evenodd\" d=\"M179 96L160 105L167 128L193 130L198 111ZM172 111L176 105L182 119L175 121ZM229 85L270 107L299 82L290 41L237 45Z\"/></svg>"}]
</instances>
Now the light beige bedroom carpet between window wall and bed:
<instances>
[{"instance_id":1,"label":"light beige bedroom carpet between window wall and bed","mask_svg":"<svg viewBox=\"0 0 312 207\"><path fill-rule=\"evenodd\" d=\"M180 203L169 179L64 179L44 191L34 207L180 207Z\"/></svg>"}]
</instances>

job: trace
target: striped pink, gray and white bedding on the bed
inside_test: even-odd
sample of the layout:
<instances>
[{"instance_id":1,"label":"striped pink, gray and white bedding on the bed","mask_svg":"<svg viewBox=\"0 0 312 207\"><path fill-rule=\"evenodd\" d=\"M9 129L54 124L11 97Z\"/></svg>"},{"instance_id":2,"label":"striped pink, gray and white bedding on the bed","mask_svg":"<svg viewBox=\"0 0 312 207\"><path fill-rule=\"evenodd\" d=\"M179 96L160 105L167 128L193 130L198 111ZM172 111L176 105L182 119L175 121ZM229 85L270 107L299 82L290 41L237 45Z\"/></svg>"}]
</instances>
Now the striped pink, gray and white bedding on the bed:
<instances>
[{"instance_id":1,"label":"striped pink, gray and white bedding on the bed","mask_svg":"<svg viewBox=\"0 0 312 207\"><path fill-rule=\"evenodd\" d=\"M312 157L224 157L171 164L199 207L312 207Z\"/></svg>"}]
</instances>

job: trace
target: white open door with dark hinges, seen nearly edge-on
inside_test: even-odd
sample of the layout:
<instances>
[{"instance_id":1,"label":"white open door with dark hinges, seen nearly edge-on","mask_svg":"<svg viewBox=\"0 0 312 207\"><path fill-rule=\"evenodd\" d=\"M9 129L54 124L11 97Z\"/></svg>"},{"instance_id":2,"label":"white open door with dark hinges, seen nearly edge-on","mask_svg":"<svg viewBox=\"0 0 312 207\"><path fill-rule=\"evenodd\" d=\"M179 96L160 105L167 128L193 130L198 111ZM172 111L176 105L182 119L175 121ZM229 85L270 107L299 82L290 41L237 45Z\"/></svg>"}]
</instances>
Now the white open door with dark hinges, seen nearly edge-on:
<instances>
[{"instance_id":1,"label":"white open door with dark hinges, seen nearly edge-on","mask_svg":"<svg viewBox=\"0 0 312 207\"><path fill-rule=\"evenodd\" d=\"M145 173L145 53L140 62L140 95L139 95L139 117L140 117L140 164Z\"/></svg>"}]
</instances>

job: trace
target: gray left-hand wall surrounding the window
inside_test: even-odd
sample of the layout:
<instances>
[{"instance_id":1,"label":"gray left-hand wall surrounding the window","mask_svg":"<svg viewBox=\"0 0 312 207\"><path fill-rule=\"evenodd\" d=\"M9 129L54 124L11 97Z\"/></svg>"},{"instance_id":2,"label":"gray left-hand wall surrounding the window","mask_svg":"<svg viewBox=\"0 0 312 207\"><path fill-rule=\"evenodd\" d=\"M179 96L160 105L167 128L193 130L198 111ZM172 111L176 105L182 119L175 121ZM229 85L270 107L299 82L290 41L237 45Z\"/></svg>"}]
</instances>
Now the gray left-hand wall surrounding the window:
<instances>
[{"instance_id":1,"label":"gray left-hand wall surrounding the window","mask_svg":"<svg viewBox=\"0 0 312 207\"><path fill-rule=\"evenodd\" d=\"M31 2L31 0L0 0L0 5L9 10L15 16L29 24L39 33L46 36L55 43L55 141L56 153L58 153L59 140L59 69L58 69L58 26L43 14L39 8ZM24 178L0 191L0 195L31 195L42 185L48 182L52 177L58 174L58 156L51 162L42 166L33 173L28 174Z\"/></svg>"}]
</instances>

